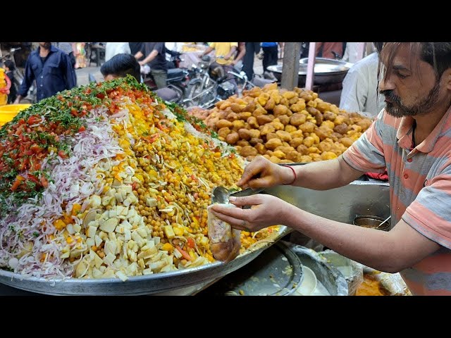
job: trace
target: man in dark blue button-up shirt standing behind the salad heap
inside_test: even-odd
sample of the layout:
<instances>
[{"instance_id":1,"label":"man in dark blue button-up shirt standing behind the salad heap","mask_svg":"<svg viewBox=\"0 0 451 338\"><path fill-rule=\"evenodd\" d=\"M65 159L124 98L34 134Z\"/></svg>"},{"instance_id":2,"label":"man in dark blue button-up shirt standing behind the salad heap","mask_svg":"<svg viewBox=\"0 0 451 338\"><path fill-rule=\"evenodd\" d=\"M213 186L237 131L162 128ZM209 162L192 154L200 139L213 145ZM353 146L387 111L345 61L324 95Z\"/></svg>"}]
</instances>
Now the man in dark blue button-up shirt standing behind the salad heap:
<instances>
[{"instance_id":1,"label":"man in dark blue button-up shirt standing behind the salad heap","mask_svg":"<svg viewBox=\"0 0 451 338\"><path fill-rule=\"evenodd\" d=\"M15 104L27 96L34 80L37 85L37 101L77 85L75 70L70 64L69 56L52 46L50 42L39 42L39 47L28 56L25 77Z\"/></svg>"}]
</instances>

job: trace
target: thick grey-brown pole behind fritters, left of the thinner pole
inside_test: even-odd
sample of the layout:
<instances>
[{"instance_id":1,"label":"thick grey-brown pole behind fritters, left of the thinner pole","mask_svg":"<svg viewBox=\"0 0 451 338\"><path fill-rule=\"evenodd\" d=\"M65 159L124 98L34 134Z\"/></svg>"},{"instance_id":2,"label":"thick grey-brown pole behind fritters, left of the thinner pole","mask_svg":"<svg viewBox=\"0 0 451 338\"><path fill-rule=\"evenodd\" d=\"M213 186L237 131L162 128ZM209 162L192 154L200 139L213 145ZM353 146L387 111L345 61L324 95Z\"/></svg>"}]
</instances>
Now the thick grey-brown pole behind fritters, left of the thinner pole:
<instances>
[{"instance_id":1,"label":"thick grey-brown pole behind fritters, left of the thinner pole","mask_svg":"<svg viewBox=\"0 0 451 338\"><path fill-rule=\"evenodd\" d=\"M282 80L280 81L280 87L288 90L292 90L297 87L297 73L299 72L300 56L300 42L285 42L285 48L283 49Z\"/></svg>"}]
</instances>

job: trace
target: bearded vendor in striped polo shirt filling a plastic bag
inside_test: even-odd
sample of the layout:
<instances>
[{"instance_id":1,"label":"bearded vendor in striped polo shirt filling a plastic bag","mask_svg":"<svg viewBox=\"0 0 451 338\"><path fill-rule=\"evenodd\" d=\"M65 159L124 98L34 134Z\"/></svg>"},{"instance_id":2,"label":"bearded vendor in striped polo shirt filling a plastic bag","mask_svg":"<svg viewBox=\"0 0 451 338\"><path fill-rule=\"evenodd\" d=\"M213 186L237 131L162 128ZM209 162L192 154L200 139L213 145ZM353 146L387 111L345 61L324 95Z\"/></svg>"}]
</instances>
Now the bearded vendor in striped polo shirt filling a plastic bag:
<instances>
[{"instance_id":1,"label":"bearded vendor in striped polo shirt filling a plastic bag","mask_svg":"<svg viewBox=\"0 0 451 338\"><path fill-rule=\"evenodd\" d=\"M292 167L257 156L237 185L327 190L387 166L390 231L328 220L268 194L212 211L239 230L292 227L354 261L400 272L412 294L451 295L451 43L386 42L380 58L385 109L345 153Z\"/></svg>"}]
</instances>

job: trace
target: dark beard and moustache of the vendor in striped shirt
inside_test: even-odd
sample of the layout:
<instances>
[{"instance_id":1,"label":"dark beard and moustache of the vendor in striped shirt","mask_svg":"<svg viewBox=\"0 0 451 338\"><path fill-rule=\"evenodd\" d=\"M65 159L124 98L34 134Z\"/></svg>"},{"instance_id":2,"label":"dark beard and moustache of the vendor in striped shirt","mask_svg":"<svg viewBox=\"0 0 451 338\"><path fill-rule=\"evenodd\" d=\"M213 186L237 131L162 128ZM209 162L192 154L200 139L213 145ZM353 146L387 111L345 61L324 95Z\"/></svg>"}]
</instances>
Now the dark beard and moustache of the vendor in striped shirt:
<instances>
[{"instance_id":1,"label":"dark beard and moustache of the vendor in striped shirt","mask_svg":"<svg viewBox=\"0 0 451 338\"><path fill-rule=\"evenodd\" d=\"M385 110L395 118L402 118L403 116L423 115L431 111L438 101L438 94L440 92L440 82L435 82L431 91L421 99L419 103L413 106L405 106L402 104L400 96L395 95L393 90L382 90L381 94L391 102L385 102Z\"/></svg>"}]
</instances>

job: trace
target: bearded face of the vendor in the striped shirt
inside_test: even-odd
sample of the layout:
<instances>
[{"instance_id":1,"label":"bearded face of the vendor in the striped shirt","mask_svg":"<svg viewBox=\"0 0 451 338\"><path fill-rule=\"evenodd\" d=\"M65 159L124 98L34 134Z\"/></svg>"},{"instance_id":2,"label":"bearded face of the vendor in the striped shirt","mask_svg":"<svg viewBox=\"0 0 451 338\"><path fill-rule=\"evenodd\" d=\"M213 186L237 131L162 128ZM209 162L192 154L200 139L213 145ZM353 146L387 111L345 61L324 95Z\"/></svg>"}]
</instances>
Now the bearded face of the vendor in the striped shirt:
<instances>
[{"instance_id":1,"label":"bearded face of the vendor in the striped shirt","mask_svg":"<svg viewBox=\"0 0 451 338\"><path fill-rule=\"evenodd\" d=\"M383 61L384 51L381 54ZM432 65L421 61L419 56L412 56L408 44L400 46L390 74L387 72L379 82L379 90L385 96L385 109L397 118L433 111L445 99L442 87Z\"/></svg>"}]
</instances>

